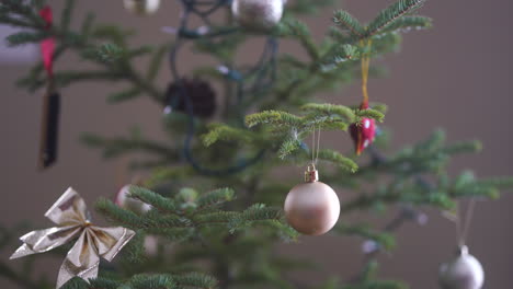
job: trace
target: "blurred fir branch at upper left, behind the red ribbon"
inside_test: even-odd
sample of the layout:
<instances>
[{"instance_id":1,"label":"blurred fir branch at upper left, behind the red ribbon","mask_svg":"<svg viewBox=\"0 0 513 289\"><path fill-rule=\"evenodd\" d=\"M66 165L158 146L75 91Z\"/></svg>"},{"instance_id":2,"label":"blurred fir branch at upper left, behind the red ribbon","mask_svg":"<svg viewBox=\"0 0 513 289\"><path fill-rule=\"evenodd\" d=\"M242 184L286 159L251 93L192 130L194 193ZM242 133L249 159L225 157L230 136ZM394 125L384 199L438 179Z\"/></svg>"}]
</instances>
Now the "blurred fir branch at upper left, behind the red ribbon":
<instances>
[{"instance_id":1,"label":"blurred fir branch at upper left, behind the red ribbon","mask_svg":"<svg viewBox=\"0 0 513 289\"><path fill-rule=\"evenodd\" d=\"M93 18L91 15L86 18L80 32L70 31L69 22L72 16L73 3L73 1L67 2L67 7L62 11L60 25L55 23L49 30L45 26L41 16L34 12L32 7L25 3L3 2L2 4L5 11L9 11L10 14L3 15L0 11L0 22L9 22L10 15L12 15L26 22L20 24L27 24L29 27L32 28L32 31L23 32L23 35L18 34L11 36L12 44L37 43L42 38L55 37L59 43L59 54L71 48L83 58L103 65L110 72L106 74L112 74L109 77L105 74L104 79L119 78L129 81L155 100L160 101L162 93L136 73L128 63L128 60L133 57L149 53L148 48L139 47L136 49L128 49L126 46L126 37L132 35L132 32L122 31L112 25L96 25L93 27ZM103 42L98 44L101 39L107 39L110 43ZM57 58L54 59L57 60ZM41 63L37 65L37 67L39 66ZM84 80L88 79L90 78L84 78ZM31 90L43 85L41 79L34 78L34 76L24 79L23 84Z\"/></svg>"}]
</instances>

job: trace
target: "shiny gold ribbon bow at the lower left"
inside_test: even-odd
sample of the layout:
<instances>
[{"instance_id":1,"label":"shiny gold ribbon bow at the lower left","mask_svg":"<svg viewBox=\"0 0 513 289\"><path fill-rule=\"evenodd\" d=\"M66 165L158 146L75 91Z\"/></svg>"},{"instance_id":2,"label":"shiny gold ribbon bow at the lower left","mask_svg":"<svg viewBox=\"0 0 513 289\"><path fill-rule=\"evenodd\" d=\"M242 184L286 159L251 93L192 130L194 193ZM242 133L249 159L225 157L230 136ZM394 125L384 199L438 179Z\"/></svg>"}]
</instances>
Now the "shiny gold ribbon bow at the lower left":
<instances>
[{"instance_id":1,"label":"shiny gold ribbon bow at the lower left","mask_svg":"<svg viewBox=\"0 0 513 289\"><path fill-rule=\"evenodd\" d=\"M84 200L71 187L49 208L45 217L57 227L32 231L20 238L23 245L12 254L11 259L50 251L78 236L60 266L57 288L75 276L84 280L95 278L100 256L111 262L135 235L134 231L122 227L93 226Z\"/></svg>"}]
</instances>

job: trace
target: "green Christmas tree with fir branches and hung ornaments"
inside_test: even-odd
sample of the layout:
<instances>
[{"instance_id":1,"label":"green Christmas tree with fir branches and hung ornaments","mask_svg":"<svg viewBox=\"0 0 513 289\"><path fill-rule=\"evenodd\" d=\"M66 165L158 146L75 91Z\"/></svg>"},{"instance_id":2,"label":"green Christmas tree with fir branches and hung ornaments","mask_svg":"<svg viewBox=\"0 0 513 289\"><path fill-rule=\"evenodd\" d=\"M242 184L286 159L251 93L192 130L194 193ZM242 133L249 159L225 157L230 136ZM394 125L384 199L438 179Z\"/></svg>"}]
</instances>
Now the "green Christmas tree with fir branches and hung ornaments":
<instances>
[{"instance_id":1,"label":"green Christmas tree with fir branches and hung ornaments","mask_svg":"<svg viewBox=\"0 0 513 289\"><path fill-rule=\"evenodd\" d=\"M71 20L83 16L73 10L72 0L56 15L49 1L2 1L0 23L23 28L7 38L9 44L42 46L43 61L18 82L30 92L47 91L42 167L56 160L59 91L79 82L126 83L124 90L105 95L111 103L150 97L162 106L163 129L170 137L156 141L138 130L128 136L84 135L83 141L106 158L149 154L146 161L130 163L149 176L122 189L115 201L105 198L95 205L112 226L135 232L118 259L102 263L98 278L78 275L61 288L408 288L400 280L379 278L377 256L394 248L394 232L403 222L423 222L422 207L455 219L464 252L468 218L458 218L458 200L497 198L513 180L479 180L468 171L451 177L451 158L478 152L481 146L446 143L442 131L386 153L389 134L377 125L387 106L367 92L369 77L383 73L372 59L397 50L403 32L431 27L431 19L417 14L424 2L399 0L367 23L337 10L332 26L318 42L301 18L324 7L338 9L339 3L182 0L182 11L172 11L180 19L169 31L170 39L134 46L130 31L96 23L93 12L72 28ZM124 3L132 12L149 14L159 1ZM237 53L252 41L263 44L260 57L238 60ZM282 42L300 45L305 55L281 50ZM184 73L180 54L190 48L217 65ZM59 70L59 59L67 53L84 65ZM146 71L135 68L140 59L148 62ZM170 69L171 83L156 81L163 69ZM362 83L358 103L317 99L326 91L341 93L342 84L354 82ZM322 149L321 131L349 134L355 152ZM319 181L327 185L318 186ZM330 187L347 195L340 206ZM346 218L387 211L397 216L384 228ZM83 230L89 219L86 223ZM280 254L276 244L327 231L362 239L361 273L312 286L294 281L290 273L311 269L312 264ZM3 246L15 244L19 233L18 228L5 229ZM64 257L72 244L52 252ZM93 247L101 252L98 243ZM54 276L29 278L33 261L20 259L26 264L22 270L2 262L0 275L20 288L54 288ZM467 287L442 284L478 289L482 280Z\"/></svg>"}]
</instances>

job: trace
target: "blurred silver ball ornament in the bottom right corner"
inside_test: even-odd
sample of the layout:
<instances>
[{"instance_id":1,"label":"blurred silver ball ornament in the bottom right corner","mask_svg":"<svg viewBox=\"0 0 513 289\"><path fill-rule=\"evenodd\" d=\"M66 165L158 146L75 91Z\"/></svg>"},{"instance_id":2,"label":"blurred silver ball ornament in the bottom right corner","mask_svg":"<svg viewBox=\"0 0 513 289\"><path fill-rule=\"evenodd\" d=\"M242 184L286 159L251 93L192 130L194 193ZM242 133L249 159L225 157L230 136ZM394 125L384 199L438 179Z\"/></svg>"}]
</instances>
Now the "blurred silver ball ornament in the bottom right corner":
<instances>
[{"instance_id":1,"label":"blurred silver ball ornament in the bottom right corner","mask_svg":"<svg viewBox=\"0 0 513 289\"><path fill-rule=\"evenodd\" d=\"M440 286L442 289L481 289L485 271L479 261L468 253L467 246L458 255L440 267Z\"/></svg>"}]
</instances>

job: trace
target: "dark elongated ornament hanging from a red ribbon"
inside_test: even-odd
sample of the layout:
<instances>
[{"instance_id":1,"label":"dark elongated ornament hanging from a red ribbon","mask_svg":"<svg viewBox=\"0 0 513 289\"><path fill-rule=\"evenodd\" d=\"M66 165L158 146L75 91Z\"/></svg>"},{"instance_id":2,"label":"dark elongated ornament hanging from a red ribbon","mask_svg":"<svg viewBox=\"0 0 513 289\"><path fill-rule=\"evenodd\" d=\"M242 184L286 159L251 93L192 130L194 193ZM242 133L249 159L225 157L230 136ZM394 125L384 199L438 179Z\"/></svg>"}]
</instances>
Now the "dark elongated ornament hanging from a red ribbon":
<instances>
[{"instance_id":1,"label":"dark elongated ornament hanging from a red ribbon","mask_svg":"<svg viewBox=\"0 0 513 289\"><path fill-rule=\"evenodd\" d=\"M53 13L49 7L39 11L39 16L45 22L45 28L52 30ZM46 94L43 99L43 119L39 142L38 167L44 170L57 160L58 126L60 114L60 95L56 91L54 81L54 51L55 38L47 37L41 42L43 66L47 74Z\"/></svg>"}]
</instances>

